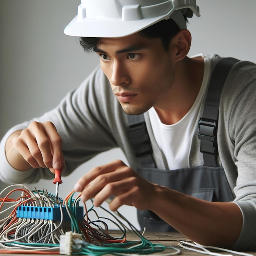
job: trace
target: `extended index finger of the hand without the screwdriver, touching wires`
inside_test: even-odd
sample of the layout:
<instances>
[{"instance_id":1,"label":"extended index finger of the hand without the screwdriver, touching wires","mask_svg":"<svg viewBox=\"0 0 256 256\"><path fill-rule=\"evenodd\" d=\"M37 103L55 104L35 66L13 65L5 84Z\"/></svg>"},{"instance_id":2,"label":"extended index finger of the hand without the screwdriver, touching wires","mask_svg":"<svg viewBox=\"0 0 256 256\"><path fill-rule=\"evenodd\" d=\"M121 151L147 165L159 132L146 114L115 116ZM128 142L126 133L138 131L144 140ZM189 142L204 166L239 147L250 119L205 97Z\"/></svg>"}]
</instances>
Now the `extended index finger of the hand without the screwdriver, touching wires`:
<instances>
[{"instance_id":1,"label":"extended index finger of the hand without the screwdriver, touching wires","mask_svg":"<svg viewBox=\"0 0 256 256\"><path fill-rule=\"evenodd\" d=\"M115 160L113 162L110 162L108 164L104 164L101 166L97 166L93 168L91 171L89 171L86 175L81 177L78 182L76 182L74 186L74 190L76 192L81 192L87 186L92 180L94 180L96 177L99 177L100 175L103 175L105 173L112 173L117 170L120 166L126 166L124 162L121 160Z\"/></svg>"}]
</instances>

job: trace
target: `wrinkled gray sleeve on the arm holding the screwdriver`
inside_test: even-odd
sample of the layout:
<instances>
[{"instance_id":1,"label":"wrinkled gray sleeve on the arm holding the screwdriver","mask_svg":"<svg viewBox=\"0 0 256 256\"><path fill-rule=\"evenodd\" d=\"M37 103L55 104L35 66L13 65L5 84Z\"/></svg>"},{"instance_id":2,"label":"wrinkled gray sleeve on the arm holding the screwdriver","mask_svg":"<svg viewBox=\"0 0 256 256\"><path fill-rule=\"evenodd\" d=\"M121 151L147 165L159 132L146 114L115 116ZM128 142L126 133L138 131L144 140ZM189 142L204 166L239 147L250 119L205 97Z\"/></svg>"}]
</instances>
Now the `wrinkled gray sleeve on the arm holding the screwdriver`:
<instances>
[{"instance_id":1,"label":"wrinkled gray sleeve on the arm holding the screwdriver","mask_svg":"<svg viewBox=\"0 0 256 256\"><path fill-rule=\"evenodd\" d=\"M95 155L117 147L118 138L113 134L113 130L118 129L114 115L121 118L123 114L117 103L113 103L114 97L108 80L97 68L79 88L68 93L55 109L11 128L0 143L0 179L12 184L53 178L49 169L31 168L28 171L17 171L6 159L4 146L7 138L15 130L27 128L31 121L51 121L56 126L63 139L63 156L66 163L63 176L69 175L76 167Z\"/></svg>"}]
</instances>

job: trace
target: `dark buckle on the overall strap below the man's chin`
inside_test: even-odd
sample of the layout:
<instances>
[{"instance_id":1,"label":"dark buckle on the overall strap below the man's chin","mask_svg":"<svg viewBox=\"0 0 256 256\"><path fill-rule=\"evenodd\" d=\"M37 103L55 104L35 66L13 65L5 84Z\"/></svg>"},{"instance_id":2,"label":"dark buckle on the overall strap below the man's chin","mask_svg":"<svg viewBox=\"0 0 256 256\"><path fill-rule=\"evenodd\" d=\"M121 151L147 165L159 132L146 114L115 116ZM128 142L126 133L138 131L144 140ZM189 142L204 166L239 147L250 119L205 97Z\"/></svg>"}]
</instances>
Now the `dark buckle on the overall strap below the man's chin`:
<instances>
[{"instance_id":1,"label":"dark buckle on the overall strap below the man's chin","mask_svg":"<svg viewBox=\"0 0 256 256\"><path fill-rule=\"evenodd\" d=\"M133 124L128 127L130 141L135 150L135 155L140 157L152 153L150 138L145 122Z\"/></svg>"}]
</instances>

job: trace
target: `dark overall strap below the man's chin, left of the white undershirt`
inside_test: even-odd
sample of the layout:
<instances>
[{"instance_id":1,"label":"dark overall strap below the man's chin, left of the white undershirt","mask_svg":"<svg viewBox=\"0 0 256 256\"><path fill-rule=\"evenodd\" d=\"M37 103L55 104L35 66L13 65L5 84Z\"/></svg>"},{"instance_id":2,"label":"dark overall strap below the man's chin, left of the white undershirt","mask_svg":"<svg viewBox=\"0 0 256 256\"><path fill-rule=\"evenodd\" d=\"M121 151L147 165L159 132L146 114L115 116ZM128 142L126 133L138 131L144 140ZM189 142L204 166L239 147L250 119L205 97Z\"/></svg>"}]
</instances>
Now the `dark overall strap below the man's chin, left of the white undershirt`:
<instances>
[{"instance_id":1,"label":"dark overall strap below the man's chin, left of the white undershirt","mask_svg":"<svg viewBox=\"0 0 256 256\"><path fill-rule=\"evenodd\" d=\"M152 147L144 115L128 115L129 138L135 150L136 157L139 158L141 166L155 167L155 161L152 155Z\"/></svg>"}]
</instances>

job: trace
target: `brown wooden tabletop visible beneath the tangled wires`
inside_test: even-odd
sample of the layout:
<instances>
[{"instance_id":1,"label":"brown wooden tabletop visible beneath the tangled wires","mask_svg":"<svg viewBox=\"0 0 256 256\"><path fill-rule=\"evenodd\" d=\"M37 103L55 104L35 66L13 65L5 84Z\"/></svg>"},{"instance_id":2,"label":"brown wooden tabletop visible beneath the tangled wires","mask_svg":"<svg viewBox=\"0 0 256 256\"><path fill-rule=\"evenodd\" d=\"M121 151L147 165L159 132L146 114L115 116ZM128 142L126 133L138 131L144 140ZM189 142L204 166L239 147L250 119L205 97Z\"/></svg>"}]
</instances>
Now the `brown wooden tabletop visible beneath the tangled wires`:
<instances>
[{"instance_id":1,"label":"brown wooden tabletop visible beneath the tangled wires","mask_svg":"<svg viewBox=\"0 0 256 256\"><path fill-rule=\"evenodd\" d=\"M115 236L115 234L118 236L118 232L116 231L112 231L111 234L113 234L113 236ZM180 249L181 251L181 255L186 255L186 256L203 256L204 254L201 254L201 253L197 253L197 252L192 252L192 251L189 251L187 249L183 249L182 247L180 247L178 245L178 240L182 240L182 241L186 241L186 242L191 242L191 240L185 238L182 234L178 233L178 232L170 232L170 233L153 233L153 232L146 232L144 234L144 237L148 240L150 240L150 242L153 242L153 243L159 243L159 244L162 244L162 245L165 245L166 247L168 246L173 246L173 247L176 247L178 249ZM130 234L128 232L127 234L127 238L130 239L130 240L137 240L137 237L135 237L134 235ZM173 252L173 249L166 249L164 252L162 252L162 254L166 254L166 253L169 253L169 252ZM221 254L225 255L227 253L225 252L220 252ZM256 256L256 252L247 252L247 253L250 253L254 256ZM38 256L39 254L1 254L3 256L26 256L26 255L29 255L29 256ZM48 256L53 256L53 255L56 255L56 254L47 254ZM153 255L154 254L148 254L149 256L150 255ZM234 254L235 255L235 254Z\"/></svg>"}]
</instances>

